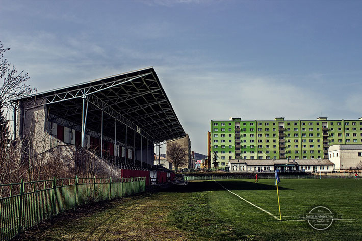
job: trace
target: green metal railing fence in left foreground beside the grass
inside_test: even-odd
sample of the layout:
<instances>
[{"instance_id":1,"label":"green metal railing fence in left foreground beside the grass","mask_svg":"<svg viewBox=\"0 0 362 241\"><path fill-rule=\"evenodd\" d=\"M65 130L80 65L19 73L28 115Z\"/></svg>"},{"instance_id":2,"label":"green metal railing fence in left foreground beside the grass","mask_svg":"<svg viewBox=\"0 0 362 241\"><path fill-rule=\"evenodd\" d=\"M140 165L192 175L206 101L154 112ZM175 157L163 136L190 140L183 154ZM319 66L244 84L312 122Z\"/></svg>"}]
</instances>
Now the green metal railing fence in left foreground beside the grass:
<instances>
[{"instance_id":1,"label":"green metal railing fence in left foreground beside the grass","mask_svg":"<svg viewBox=\"0 0 362 241\"><path fill-rule=\"evenodd\" d=\"M77 206L144 192L145 177L61 178L0 185L0 240Z\"/></svg>"}]
</instances>

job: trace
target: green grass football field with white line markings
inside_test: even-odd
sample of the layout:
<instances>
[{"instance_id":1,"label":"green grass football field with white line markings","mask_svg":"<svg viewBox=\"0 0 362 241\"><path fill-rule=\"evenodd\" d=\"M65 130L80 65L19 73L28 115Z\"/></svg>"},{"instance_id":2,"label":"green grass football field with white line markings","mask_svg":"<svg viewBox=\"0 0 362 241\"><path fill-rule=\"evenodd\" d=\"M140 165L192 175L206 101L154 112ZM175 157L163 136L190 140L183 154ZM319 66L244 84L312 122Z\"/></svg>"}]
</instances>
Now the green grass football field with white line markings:
<instances>
[{"instance_id":1,"label":"green grass football field with white line markings","mask_svg":"<svg viewBox=\"0 0 362 241\"><path fill-rule=\"evenodd\" d=\"M282 221L274 180L189 182L66 213L19 240L362 240L362 180L282 180L279 196ZM320 204L343 220L324 231L294 221Z\"/></svg>"}]
</instances>

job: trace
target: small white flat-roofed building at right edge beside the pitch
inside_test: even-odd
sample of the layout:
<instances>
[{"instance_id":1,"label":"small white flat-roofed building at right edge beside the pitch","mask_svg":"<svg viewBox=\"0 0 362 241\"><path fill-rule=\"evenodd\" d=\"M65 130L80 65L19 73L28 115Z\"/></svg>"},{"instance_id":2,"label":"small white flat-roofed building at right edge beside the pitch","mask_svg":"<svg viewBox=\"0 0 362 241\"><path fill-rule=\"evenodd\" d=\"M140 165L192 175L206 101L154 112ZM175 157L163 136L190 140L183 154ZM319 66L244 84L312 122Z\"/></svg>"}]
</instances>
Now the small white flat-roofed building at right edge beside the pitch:
<instances>
[{"instance_id":1,"label":"small white flat-roofed building at right edge beside the pitch","mask_svg":"<svg viewBox=\"0 0 362 241\"><path fill-rule=\"evenodd\" d=\"M335 169L361 169L362 145L332 145L328 148L329 160Z\"/></svg>"}]
</instances>

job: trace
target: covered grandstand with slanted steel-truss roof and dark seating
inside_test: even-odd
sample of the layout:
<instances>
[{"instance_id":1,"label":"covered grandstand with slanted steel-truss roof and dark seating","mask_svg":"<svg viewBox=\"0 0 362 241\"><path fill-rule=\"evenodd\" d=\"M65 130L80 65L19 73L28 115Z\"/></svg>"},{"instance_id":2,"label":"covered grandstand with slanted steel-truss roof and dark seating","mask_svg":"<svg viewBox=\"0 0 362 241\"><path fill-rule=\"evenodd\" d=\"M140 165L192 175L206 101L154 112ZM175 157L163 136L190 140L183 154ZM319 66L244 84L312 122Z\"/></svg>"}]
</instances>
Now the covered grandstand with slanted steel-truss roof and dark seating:
<instances>
[{"instance_id":1,"label":"covered grandstand with slanted steel-truss roof and dark seating","mask_svg":"<svg viewBox=\"0 0 362 241\"><path fill-rule=\"evenodd\" d=\"M150 179L151 171L162 172L154 166L154 148L185 136L153 67L12 103L14 139L30 143L28 154L59 146L81 148L119 168L122 177L141 176L142 171Z\"/></svg>"}]
</instances>

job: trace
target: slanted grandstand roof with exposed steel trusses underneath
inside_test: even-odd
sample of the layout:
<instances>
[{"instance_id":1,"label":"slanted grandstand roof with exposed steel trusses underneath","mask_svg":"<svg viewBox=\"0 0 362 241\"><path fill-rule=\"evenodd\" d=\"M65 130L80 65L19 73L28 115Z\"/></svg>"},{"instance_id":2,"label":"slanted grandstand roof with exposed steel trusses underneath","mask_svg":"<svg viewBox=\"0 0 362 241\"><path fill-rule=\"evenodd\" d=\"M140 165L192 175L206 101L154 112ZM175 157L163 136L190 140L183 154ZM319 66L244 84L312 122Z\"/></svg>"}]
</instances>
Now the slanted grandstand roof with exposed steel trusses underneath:
<instances>
[{"instance_id":1,"label":"slanted grandstand roof with exposed steel trusses underneath","mask_svg":"<svg viewBox=\"0 0 362 241\"><path fill-rule=\"evenodd\" d=\"M79 125L83 99L89 103L87 129L100 132L103 110L104 133L110 137L114 136L115 118L155 143L185 136L153 67L36 93L13 102L24 109L49 106L51 114ZM125 127L119 128L117 123L117 137L121 138L124 131Z\"/></svg>"}]
</instances>

